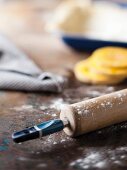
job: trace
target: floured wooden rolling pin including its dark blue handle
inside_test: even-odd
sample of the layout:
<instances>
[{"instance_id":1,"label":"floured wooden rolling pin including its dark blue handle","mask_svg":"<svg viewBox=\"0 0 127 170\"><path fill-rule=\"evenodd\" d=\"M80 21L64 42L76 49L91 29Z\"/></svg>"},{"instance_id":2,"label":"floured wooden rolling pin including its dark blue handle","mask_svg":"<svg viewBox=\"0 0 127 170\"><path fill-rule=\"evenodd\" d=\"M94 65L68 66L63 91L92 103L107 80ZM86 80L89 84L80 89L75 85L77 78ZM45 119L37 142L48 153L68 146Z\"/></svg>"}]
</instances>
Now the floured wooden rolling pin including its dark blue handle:
<instances>
[{"instance_id":1,"label":"floured wooden rolling pin including its dark blue handle","mask_svg":"<svg viewBox=\"0 0 127 170\"><path fill-rule=\"evenodd\" d=\"M82 135L127 120L127 89L82 101L63 105L60 119L13 133L15 142L46 136L61 130L72 137Z\"/></svg>"}]
</instances>

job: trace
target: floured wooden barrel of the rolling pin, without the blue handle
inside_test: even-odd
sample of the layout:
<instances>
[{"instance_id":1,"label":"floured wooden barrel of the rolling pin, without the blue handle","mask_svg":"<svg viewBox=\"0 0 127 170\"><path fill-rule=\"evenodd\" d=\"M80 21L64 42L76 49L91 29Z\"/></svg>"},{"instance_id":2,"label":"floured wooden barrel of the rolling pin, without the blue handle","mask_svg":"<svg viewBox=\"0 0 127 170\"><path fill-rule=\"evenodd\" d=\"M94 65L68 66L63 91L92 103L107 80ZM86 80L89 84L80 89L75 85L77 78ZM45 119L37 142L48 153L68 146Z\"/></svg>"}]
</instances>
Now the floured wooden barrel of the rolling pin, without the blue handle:
<instances>
[{"instance_id":1,"label":"floured wooden barrel of the rolling pin, without the blue handle","mask_svg":"<svg viewBox=\"0 0 127 170\"><path fill-rule=\"evenodd\" d=\"M61 120L68 120L64 131L78 136L127 120L127 89L86 100L61 109Z\"/></svg>"}]
</instances>

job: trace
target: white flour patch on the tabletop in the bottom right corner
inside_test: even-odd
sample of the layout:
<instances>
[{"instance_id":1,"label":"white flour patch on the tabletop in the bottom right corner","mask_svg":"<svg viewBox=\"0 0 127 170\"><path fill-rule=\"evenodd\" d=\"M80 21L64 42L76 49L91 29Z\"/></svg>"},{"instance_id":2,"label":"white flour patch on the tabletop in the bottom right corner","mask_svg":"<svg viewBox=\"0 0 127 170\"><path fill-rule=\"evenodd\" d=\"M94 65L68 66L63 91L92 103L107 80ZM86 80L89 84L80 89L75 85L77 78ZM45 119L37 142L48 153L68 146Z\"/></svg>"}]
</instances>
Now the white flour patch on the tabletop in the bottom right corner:
<instances>
[{"instance_id":1,"label":"white flour patch on the tabletop in the bottom right corner","mask_svg":"<svg viewBox=\"0 0 127 170\"><path fill-rule=\"evenodd\" d=\"M83 150L83 148L81 148ZM93 148L92 148L93 150ZM84 150L85 156L69 164L74 169L112 169L112 166L121 166L127 160L127 147L98 148L98 151ZM97 148L96 148L97 150ZM104 150L106 152L104 152ZM86 154L87 153L87 154ZM111 167L108 165L110 164ZM125 164L126 165L126 164Z\"/></svg>"}]
</instances>

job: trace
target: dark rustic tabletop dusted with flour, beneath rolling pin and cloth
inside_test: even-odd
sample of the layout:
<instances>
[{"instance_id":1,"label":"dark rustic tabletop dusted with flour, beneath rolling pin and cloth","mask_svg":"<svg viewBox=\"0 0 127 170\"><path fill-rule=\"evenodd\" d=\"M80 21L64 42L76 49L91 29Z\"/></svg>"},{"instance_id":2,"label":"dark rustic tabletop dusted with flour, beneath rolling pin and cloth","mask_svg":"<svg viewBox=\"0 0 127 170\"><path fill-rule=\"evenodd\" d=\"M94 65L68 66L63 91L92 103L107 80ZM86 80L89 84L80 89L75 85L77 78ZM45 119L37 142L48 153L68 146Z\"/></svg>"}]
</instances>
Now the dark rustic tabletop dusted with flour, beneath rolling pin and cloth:
<instances>
[{"instance_id":1,"label":"dark rustic tabletop dusted with flour, beneath rolling pin and cloth","mask_svg":"<svg viewBox=\"0 0 127 170\"><path fill-rule=\"evenodd\" d=\"M48 3L48 1L46 2ZM46 4L46 6L49 9L49 5ZM36 16L40 16L40 8L37 9L38 15ZM46 7L43 9L46 9ZM20 13L22 20L24 16L25 13L22 15ZM40 18L38 17L38 19ZM22 31L16 25L15 30L17 32L9 31L9 26L6 26L6 29L3 30L40 67L45 70L63 73L65 67L72 68L77 61L86 56L86 54L72 51L57 38L43 33L41 27L39 27L40 22L36 21L37 23L33 24L32 21L33 19L28 20L27 25L29 27L21 27ZM2 30L1 26L0 30ZM126 87L126 83L123 86ZM61 95L1 91L0 170L127 169L126 122L76 139L69 138L64 132L60 132L41 140L33 140L22 144L14 144L11 140L11 134L15 130L58 118L59 113L55 108L59 109L61 103L75 103L110 93L118 88L122 89L122 86L114 88L71 83L71 87Z\"/></svg>"}]
</instances>

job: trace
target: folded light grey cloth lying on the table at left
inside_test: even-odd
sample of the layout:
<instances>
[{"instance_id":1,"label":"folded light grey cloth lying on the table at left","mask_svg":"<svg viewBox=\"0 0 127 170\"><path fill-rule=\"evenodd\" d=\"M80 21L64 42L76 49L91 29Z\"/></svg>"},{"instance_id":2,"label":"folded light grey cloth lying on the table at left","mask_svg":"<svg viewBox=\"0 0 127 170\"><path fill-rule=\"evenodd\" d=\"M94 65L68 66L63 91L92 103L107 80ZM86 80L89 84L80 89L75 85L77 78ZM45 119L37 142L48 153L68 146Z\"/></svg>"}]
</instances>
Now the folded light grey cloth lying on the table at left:
<instances>
[{"instance_id":1,"label":"folded light grey cloth lying on the table at left","mask_svg":"<svg viewBox=\"0 0 127 170\"><path fill-rule=\"evenodd\" d=\"M0 35L0 89L61 92L67 78L43 72L27 55Z\"/></svg>"}]
</instances>

